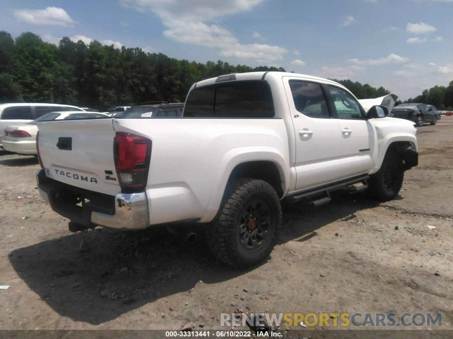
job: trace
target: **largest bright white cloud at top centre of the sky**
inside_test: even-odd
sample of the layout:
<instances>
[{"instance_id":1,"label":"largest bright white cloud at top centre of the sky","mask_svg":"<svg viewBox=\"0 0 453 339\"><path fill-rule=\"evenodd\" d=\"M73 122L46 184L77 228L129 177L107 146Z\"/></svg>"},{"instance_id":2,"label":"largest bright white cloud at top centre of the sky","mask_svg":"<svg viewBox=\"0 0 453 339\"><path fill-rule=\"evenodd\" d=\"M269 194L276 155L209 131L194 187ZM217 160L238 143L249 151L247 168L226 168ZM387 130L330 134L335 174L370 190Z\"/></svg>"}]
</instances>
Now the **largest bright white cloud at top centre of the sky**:
<instances>
[{"instance_id":1,"label":"largest bright white cloud at top centre of the sky","mask_svg":"<svg viewBox=\"0 0 453 339\"><path fill-rule=\"evenodd\" d=\"M167 27L163 35L173 41L214 47L220 56L254 59L259 62L283 60L289 51L267 44L243 44L225 28L208 24L225 15L250 11L263 0L120 0L125 7L154 12Z\"/></svg>"}]
</instances>

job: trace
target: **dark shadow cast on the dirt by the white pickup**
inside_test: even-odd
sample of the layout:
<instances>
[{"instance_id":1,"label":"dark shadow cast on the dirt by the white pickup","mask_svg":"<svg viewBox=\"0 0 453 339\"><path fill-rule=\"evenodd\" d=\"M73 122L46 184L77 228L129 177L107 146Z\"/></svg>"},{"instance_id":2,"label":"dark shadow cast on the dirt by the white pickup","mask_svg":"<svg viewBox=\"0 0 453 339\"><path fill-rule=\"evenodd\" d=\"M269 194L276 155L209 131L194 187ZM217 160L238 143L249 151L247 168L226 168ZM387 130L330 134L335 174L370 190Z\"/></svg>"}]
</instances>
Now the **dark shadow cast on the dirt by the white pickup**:
<instances>
[{"instance_id":1,"label":"dark shadow cast on the dirt by the white pickup","mask_svg":"<svg viewBox=\"0 0 453 339\"><path fill-rule=\"evenodd\" d=\"M284 224L291 221L291 227L284 228L280 242L303 241L328 223L354 218L355 212L376 206L360 194L333 197L331 204L317 209L285 206ZM92 325L189 291L200 280L213 284L246 273L216 263L202 240L182 244L157 228L79 232L9 255L19 277L48 306L61 316Z\"/></svg>"}]
</instances>

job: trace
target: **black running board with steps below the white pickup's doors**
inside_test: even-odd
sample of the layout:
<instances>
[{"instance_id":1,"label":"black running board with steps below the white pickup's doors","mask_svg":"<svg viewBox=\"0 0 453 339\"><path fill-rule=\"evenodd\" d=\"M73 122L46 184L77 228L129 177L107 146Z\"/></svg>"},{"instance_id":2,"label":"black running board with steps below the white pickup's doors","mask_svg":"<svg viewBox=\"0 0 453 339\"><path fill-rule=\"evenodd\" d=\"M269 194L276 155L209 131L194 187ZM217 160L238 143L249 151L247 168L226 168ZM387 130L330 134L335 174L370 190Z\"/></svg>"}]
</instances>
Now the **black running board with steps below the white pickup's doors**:
<instances>
[{"instance_id":1,"label":"black running board with steps below the white pickup's doors","mask_svg":"<svg viewBox=\"0 0 453 339\"><path fill-rule=\"evenodd\" d=\"M342 180L342 181L334 183L334 184L324 185L324 186L321 186L318 188L313 188L313 189L307 190L305 192L287 197L287 198L285 198L285 200L289 203L295 203L295 202L301 201L304 198L314 198L314 197L318 197L319 195L321 195L323 193L327 193L328 197L313 201L313 203L315 201L320 201L319 202L320 205L315 204L315 206L321 206L325 203L330 202L331 199L330 199L329 192L337 191L339 189L347 189L353 193L362 192L362 191L366 190L366 188L368 188L368 185L366 184L367 179L370 179L370 177L368 175L357 176L354 178ZM361 186L356 187L355 184L361 184Z\"/></svg>"}]
</instances>

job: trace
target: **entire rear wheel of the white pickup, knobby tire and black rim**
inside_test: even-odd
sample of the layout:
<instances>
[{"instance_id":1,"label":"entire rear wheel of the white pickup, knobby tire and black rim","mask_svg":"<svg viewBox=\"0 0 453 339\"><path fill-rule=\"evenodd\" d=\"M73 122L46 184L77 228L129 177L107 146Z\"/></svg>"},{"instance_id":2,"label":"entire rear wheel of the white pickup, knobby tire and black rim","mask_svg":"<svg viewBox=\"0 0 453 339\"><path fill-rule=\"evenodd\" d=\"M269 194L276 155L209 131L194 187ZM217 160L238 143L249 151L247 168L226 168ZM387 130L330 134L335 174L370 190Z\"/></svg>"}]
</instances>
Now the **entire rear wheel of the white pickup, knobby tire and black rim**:
<instances>
[{"instance_id":1,"label":"entire rear wheel of the white pickup, knobby tire and black rim","mask_svg":"<svg viewBox=\"0 0 453 339\"><path fill-rule=\"evenodd\" d=\"M282 211L275 189L263 180L228 184L221 211L207 231L212 254L222 263L246 268L269 257L277 242Z\"/></svg>"}]
</instances>

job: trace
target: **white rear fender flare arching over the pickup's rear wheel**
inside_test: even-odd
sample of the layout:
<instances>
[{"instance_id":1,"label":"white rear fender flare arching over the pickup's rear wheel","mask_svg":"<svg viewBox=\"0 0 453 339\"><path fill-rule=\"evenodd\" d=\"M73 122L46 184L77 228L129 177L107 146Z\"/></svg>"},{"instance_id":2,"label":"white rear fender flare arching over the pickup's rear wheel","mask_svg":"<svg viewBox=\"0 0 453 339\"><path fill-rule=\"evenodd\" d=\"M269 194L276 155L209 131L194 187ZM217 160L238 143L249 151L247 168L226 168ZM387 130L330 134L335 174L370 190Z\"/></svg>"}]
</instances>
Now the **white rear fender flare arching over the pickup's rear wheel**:
<instances>
[{"instance_id":1,"label":"white rear fender flare arching over the pickup's rear wheel","mask_svg":"<svg viewBox=\"0 0 453 339\"><path fill-rule=\"evenodd\" d=\"M237 147L228 151L223 157L212 185L207 208L200 222L210 222L216 217L231 172L237 165L250 161L271 161L279 172L282 181L283 196L289 189L289 159L278 149L270 146Z\"/></svg>"}]
</instances>

